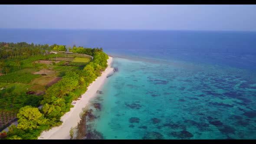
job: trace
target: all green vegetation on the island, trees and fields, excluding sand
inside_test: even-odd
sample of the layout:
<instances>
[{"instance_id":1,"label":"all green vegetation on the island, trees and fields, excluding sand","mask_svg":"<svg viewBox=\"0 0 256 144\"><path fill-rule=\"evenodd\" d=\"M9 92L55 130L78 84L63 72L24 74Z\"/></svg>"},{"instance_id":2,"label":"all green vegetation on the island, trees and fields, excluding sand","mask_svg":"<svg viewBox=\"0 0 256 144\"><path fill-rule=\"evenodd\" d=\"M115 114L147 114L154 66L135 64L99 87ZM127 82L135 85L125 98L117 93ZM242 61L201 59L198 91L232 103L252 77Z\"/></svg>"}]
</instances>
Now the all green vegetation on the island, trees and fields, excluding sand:
<instances>
[{"instance_id":1,"label":"all green vegetation on the island, trees and fields, excluding sand","mask_svg":"<svg viewBox=\"0 0 256 144\"><path fill-rule=\"evenodd\" d=\"M66 48L56 44L0 43L0 50L0 85L7 87L0 91L2 125L15 115L19 119L17 127L11 125L7 133L0 133L1 139L37 139L42 131L62 124L60 118L70 111L71 102L86 92L89 84L108 66L108 56L102 48L73 47L70 50L73 54L43 55L46 50L66 51ZM84 54L94 56L92 62ZM7 74L3 74L5 72ZM33 74L35 72L40 74ZM50 72L62 79L48 88L45 84L51 80L44 81L46 76L41 74ZM42 97L26 94L29 91L26 88L35 91L48 89ZM40 110L36 108L39 105L43 105Z\"/></svg>"}]
</instances>

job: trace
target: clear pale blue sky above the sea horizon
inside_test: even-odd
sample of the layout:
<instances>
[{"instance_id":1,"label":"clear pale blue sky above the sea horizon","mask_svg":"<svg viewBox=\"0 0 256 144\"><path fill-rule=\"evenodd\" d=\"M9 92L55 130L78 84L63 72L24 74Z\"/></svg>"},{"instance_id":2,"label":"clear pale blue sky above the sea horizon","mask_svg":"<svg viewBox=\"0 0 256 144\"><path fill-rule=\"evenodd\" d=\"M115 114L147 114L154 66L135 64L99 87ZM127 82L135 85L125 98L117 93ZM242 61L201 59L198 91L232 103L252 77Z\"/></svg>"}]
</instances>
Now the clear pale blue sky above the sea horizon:
<instances>
[{"instance_id":1,"label":"clear pale blue sky above the sea horizon","mask_svg":"<svg viewBox=\"0 0 256 144\"><path fill-rule=\"evenodd\" d=\"M256 31L256 5L0 5L0 28Z\"/></svg>"}]
</instances>

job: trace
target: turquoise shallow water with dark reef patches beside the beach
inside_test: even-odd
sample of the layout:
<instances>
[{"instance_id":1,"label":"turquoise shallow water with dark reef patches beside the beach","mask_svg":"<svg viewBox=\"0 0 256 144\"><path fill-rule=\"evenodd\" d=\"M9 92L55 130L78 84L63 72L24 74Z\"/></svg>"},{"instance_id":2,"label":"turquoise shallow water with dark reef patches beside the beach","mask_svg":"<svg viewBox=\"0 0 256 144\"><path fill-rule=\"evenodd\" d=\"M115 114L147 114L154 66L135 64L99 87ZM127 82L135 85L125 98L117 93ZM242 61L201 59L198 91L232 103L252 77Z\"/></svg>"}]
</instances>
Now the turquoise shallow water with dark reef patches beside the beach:
<instances>
[{"instance_id":1,"label":"turquoise shallow water with dark reef patches beside the beach","mask_svg":"<svg viewBox=\"0 0 256 144\"><path fill-rule=\"evenodd\" d=\"M112 66L119 71L92 99L88 132L104 139L256 138L255 72L148 59L114 58Z\"/></svg>"}]
</instances>

